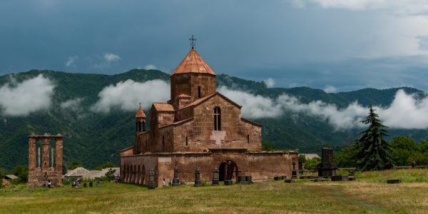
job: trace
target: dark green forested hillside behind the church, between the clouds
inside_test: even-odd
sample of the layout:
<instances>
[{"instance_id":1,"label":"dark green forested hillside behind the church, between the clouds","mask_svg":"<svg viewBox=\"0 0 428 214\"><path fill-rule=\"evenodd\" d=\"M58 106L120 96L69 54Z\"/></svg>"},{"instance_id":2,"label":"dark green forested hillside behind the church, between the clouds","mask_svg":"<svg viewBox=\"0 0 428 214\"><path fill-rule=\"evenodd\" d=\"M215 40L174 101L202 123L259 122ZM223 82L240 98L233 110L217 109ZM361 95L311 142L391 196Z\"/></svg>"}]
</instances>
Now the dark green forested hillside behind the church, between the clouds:
<instances>
[{"instance_id":1,"label":"dark green forested hillside behind the church, between the clouds","mask_svg":"<svg viewBox=\"0 0 428 214\"><path fill-rule=\"evenodd\" d=\"M144 82L161 79L169 81L169 74L155 70L133 69L116 75L64 73L58 71L28 71L13 76L13 80L21 82L34 78L42 73L54 82L52 105L44 110L31 113L29 116L4 116L0 114L0 168L10 169L15 165L26 165L28 154L27 136L31 132L63 133L64 163L82 163L92 168L105 161L118 163L118 152L133 144L134 121L133 111L113 108L109 113L91 111L98 93L106 86L119 81L132 79ZM0 86L11 81L10 76L0 77ZM233 90L247 91L260 96L276 98L284 93L300 98L302 103L314 100L333 103L345 108L354 101L367 106L389 106L399 88L377 90L365 88L358 91L342 93L325 93L319 89L299 88L267 88L263 82L247 81L241 78L218 75L218 86L227 86ZM422 91L415 88L402 88L407 93ZM61 103L73 98L82 98L78 108L61 108ZM31 108L31 106L28 106ZM144 109L146 113L149 109ZM357 137L359 130L335 131L321 118L308 116L305 113L284 113L277 118L253 119L263 123L263 141L270 142L277 148L300 149L301 152L320 152L322 146L340 149ZM391 130L391 135L409 135L417 140L428 138L427 130Z\"/></svg>"}]
</instances>

